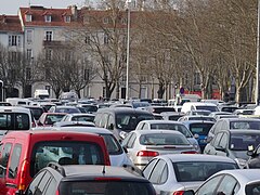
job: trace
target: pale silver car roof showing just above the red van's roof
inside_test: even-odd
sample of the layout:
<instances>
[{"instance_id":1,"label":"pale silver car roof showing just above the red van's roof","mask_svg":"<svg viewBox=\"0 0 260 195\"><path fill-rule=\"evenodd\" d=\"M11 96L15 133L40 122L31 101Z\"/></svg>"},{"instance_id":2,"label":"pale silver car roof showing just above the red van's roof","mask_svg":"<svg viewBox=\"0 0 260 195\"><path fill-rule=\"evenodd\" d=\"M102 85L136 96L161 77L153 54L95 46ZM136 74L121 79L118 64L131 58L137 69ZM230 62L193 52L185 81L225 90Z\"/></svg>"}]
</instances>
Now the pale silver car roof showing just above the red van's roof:
<instances>
[{"instance_id":1,"label":"pale silver car roof showing just above the red van's roof","mask_svg":"<svg viewBox=\"0 0 260 195\"><path fill-rule=\"evenodd\" d=\"M53 128L55 129L55 128ZM74 132L91 132L91 133L98 133L98 134L113 134L107 129L99 128L99 127L60 127L58 130L64 131L74 131Z\"/></svg>"}]
</instances>

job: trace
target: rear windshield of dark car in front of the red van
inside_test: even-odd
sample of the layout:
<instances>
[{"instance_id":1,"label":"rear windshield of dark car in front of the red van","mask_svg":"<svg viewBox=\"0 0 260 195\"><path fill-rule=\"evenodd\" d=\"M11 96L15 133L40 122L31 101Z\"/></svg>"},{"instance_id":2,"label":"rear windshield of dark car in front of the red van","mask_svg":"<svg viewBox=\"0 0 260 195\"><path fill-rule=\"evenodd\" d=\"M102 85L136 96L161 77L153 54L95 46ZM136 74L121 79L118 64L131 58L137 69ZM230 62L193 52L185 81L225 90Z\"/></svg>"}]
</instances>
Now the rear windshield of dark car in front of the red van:
<instances>
[{"instance_id":1,"label":"rear windshield of dark car in front of the red van","mask_svg":"<svg viewBox=\"0 0 260 195\"><path fill-rule=\"evenodd\" d=\"M61 183L63 195L151 195L154 194L150 183L134 181L65 181Z\"/></svg>"}]
</instances>

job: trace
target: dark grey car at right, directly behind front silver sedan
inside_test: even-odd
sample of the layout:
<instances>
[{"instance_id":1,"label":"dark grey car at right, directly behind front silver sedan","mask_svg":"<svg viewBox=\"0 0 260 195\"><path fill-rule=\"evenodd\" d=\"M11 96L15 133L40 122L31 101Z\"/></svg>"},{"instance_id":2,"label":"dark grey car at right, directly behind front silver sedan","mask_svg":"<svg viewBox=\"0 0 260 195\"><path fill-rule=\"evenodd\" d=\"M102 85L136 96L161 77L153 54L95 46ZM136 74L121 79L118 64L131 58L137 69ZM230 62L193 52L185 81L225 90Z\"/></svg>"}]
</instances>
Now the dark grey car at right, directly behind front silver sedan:
<instances>
[{"instance_id":1,"label":"dark grey car at right, directly behind front silver sedan","mask_svg":"<svg viewBox=\"0 0 260 195\"><path fill-rule=\"evenodd\" d=\"M260 143L260 130L222 130L206 145L204 154L229 156L244 168L248 160L248 146Z\"/></svg>"}]
</instances>

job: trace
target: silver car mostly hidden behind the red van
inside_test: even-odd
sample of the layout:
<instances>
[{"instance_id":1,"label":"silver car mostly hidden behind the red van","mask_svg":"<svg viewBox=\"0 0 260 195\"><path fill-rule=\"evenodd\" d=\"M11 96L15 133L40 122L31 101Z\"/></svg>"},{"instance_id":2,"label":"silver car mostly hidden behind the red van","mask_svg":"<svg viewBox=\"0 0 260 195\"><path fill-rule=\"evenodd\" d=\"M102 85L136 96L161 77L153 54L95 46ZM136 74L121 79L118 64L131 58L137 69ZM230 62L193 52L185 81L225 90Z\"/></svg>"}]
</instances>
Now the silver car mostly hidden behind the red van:
<instances>
[{"instance_id":1,"label":"silver car mostly hidden behind the red van","mask_svg":"<svg viewBox=\"0 0 260 195\"><path fill-rule=\"evenodd\" d=\"M60 127L53 129L100 134L104 138L104 141L106 143L112 166L133 166L132 161L129 159L121 145L118 143L113 133L107 129L96 127Z\"/></svg>"}]
</instances>

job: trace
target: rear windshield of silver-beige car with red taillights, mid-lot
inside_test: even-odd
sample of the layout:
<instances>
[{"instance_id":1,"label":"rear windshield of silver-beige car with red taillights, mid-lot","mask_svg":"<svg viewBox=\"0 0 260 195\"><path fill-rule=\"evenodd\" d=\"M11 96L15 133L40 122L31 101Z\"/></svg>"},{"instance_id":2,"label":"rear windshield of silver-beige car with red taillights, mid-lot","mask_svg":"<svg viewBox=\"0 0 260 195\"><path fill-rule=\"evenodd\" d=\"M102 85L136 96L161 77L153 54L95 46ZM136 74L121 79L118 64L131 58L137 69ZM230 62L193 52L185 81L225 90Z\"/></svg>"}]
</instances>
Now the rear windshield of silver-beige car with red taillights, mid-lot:
<instances>
[{"instance_id":1,"label":"rear windshield of silver-beige car with red taillights, mid-lot","mask_svg":"<svg viewBox=\"0 0 260 195\"><path fill-rule=\"evenodd\" d=\"M190 145L190 142L182 134L173 133L151 133L140 136L142 145Z\"/></svg>"}]
</instances>

